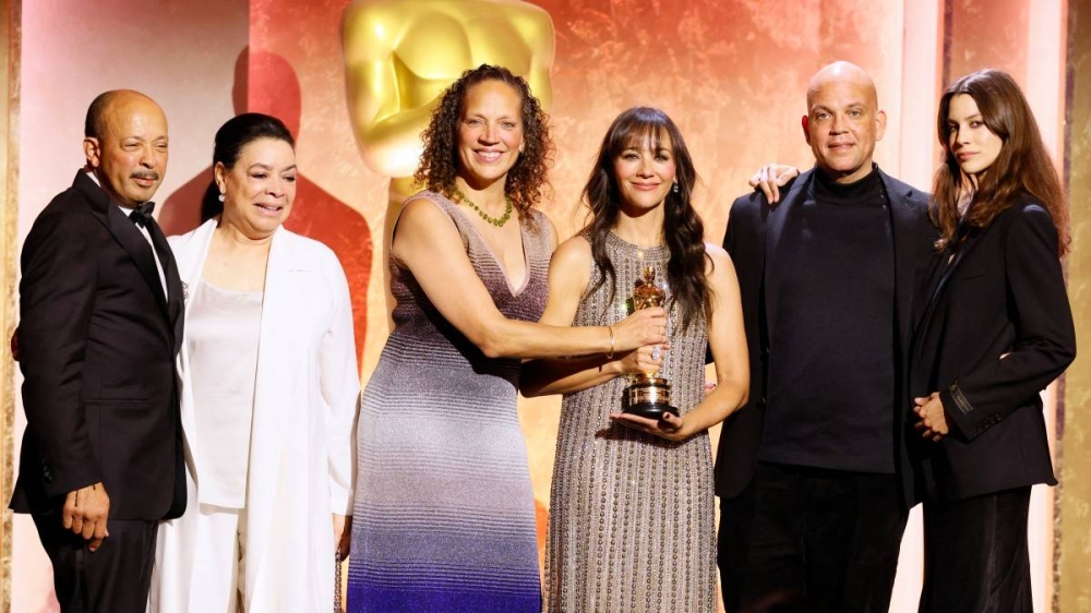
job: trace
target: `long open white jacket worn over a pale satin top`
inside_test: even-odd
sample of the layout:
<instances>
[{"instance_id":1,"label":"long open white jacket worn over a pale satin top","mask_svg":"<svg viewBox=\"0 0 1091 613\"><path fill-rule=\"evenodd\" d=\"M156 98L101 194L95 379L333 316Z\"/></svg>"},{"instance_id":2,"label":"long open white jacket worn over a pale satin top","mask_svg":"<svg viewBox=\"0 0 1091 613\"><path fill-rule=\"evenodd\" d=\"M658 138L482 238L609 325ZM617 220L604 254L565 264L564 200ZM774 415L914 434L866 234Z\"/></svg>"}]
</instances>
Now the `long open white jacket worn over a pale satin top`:
<instances>
[{"instance_id":1,"label":"long open white jacket worn over a pale satin top","mask_svg":"<svg viewBox=\"0 0 1091 613\"><path fill-rule=\"evenodd\" d=\"M217 221L171 237L189 314ZM257 349L245 496L245 610L328 611L334 593L332 514L351 515L360 373L348 283L333 251L279 228L273 236ZM201 488L189 349L178 356L190 498L159 528L149 611L190 612L199 504L224 505ZM194 495L195 494L195 495ZM238 506L238 505L229 505ZM230 573L231 569L226 569ZM229 580L229 576L228 576Z\"/></svg>"}]
</instances>

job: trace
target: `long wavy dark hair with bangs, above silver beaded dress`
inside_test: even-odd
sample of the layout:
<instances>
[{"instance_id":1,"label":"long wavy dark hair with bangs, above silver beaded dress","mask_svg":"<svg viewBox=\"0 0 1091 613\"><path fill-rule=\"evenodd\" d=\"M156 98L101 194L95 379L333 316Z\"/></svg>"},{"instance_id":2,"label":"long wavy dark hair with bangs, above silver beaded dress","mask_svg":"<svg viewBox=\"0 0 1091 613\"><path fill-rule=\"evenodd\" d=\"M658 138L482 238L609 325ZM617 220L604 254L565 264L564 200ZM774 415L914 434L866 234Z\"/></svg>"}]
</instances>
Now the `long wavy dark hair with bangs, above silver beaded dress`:
<instances>
[{"instance_id":1,"label":"long wavy dark hair with bangs, above silver beaded dress","mask_svg":"<svg viewBox=\"0 0 1091 613\"><path fill-rule=\"evenodd\" d=\"M628 147L659 148L669 136L674 157L674 180L679 191L671 188L663 201L663 238L670 251L667 280L670 284L672 304L681 310L682 329L697 320L699 313L711 310L712 289L705 277L705 263L711 259L705 252L705 226L691 203L697 171L685 146L682 133L663 111L649 108L631 108L613 120L599 147L598 159L584 187L582 197L590 208L591 223L583 230L591 243L591 256L599 272L598 281L587 293L602 284L610 284L611 302L616 297L618 278L613 263L607 254L607 236L618 225L621 214L621 190L614 176L614 160Z\"/></svg>"}]
</instances>

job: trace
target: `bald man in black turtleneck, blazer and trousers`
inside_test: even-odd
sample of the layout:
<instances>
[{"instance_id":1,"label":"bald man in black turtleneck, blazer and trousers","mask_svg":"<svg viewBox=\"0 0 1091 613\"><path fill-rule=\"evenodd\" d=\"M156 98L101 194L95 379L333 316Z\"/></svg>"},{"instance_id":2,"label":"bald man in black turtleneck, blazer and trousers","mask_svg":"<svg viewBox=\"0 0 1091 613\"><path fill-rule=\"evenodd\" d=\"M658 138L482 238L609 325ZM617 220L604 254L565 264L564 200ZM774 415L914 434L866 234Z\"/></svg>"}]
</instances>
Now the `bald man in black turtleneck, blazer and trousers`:
<instances>
[{"instance_id":1,"label":"bald man in black turtleneck, blazer and trousers","mask_svg":"<svg viewBox=\"0 0 1091 613\"><path fill-rule=\"evenodd\" d=\"M789 594L830 613L889 606L912 504L910 313L935 235L927 194L872 161L885 128L863 70L822 69L803 117L815 168L779 204L755 192L731 207L752 380L716 465L729 612Z\"/></svg>"}]
</instances>

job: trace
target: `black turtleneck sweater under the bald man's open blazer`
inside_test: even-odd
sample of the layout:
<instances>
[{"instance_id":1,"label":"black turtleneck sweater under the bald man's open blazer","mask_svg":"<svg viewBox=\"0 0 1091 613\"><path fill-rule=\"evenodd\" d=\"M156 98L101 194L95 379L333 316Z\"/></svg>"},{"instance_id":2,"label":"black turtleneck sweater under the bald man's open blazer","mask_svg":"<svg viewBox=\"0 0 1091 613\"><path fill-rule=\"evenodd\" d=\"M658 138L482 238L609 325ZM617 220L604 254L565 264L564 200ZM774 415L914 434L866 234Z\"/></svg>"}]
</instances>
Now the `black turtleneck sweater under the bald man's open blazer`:
<instances>
[{"instance_id":1,"label":"black turtleneck sweater under the bald man's open blazer","mask_svg":"<svg viewBox=\"0 0 1091 613\"><path fill-rule=\"evenodd\" d=\"M768 412L762 459L894 472L895 287L877 171L840 184L816 169L771 254ZM767 299L768 301L768 299Z\"/></svg>"}]
</instances>

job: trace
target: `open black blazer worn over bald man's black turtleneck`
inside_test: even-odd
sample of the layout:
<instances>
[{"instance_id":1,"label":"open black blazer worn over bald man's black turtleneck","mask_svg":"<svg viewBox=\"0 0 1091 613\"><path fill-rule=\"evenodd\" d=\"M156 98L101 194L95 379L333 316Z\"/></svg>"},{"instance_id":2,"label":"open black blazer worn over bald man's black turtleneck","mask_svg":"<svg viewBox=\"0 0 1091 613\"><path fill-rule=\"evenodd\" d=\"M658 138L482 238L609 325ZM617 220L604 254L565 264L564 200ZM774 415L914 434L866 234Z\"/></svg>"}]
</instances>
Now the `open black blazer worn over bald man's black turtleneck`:
<instances>
[{"instance_id":1,"label":"open black blazer worn over bald man's black turtleneck","mask_svg":"<svg viewBox=\"0 0 1091 613\"><path fill-rule=\"evenodd\" d=\"M746 405L731 414L720 432L716 459L716 494L734 497L750 483L762 445L766 408L766 363L769 357L769 327L766 312L771 312L778 300L766 278L777 274L777 244L788 217L788 211L801 206L805 200L815 170L808 170L782 189L780 203L769 206L760 192L752 192L731 205L728 231L723 248L731 254L739 276L739 290L743 306L743 323L750 349L751 387ZM927 194L876 167L883 187L890 200L890 225L894 233L895 255L895 321L896 349L898 351L899 409L895 418L897 432L891 433L891 453L897 454L896 466L902 474L903 492L909 504L913 482L909 456L901 441L906 437L906 416L900 399L904 397L906 363L909 351L913 297L921 291L928 264L934 260L932 245L937 235L927 219ZM837 352L849 347L831 347ZM846 373L851 376L851 373Z\"/></svg>"}]
</instances>

